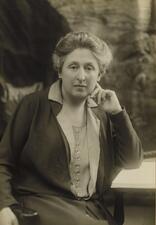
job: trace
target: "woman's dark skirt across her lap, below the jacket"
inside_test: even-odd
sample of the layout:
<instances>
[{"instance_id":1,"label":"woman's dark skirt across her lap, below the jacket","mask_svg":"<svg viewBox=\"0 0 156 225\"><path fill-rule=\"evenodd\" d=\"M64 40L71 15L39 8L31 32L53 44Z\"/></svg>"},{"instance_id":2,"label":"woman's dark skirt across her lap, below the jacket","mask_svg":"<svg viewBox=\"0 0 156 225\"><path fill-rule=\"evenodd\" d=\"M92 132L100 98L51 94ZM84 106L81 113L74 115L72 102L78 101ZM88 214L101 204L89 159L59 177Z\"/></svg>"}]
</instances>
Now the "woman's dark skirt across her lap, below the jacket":
<instances>
[{"instance_id":1,"label":"woman's dark skirt across her lap, below the jacket","mask_svg":"<svg viewBox=\"0 0 156 225\"><path fill-rule=\"evenodd\" d=\"M108 225L107 220L91 200L75 200L58 196L24 196L24 207L38 212L34 218L20 220L20 225Z\"/></svg>"}]
</instances>

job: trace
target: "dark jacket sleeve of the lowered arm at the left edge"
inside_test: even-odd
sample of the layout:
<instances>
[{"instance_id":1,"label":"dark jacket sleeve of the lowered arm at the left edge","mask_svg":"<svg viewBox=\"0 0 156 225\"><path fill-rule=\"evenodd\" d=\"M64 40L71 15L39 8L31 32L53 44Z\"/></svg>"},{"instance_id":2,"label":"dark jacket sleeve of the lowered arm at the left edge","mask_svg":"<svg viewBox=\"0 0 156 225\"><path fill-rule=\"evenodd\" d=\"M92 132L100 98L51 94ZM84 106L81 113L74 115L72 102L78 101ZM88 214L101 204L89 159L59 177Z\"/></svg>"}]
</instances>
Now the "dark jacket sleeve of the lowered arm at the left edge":
<instances>
[{"instance_id":1,"label":"dark jacket sleeve of the lowered arm at the left edge","mask_svg":"<svg viewBox=\"0 0 156 225\"><path fill-rule=\"evenodd\" d=\"M12 195L11 180L28 137L32 106L29 97L19 103L0 142L0 209L17 203Z\"/></svg>"}]
</instances>

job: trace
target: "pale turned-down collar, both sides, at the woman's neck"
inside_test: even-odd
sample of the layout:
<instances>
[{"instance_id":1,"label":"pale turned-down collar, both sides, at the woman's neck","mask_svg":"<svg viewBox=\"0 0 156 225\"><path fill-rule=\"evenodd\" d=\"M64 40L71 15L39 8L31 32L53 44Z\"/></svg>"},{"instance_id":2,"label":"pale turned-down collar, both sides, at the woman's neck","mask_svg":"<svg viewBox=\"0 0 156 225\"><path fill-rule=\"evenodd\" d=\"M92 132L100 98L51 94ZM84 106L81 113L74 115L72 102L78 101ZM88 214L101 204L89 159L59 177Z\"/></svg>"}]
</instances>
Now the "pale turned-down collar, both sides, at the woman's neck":
<instances>
[{"instance_id":1,"label":"pale turned-down collar, both sides, at the woman's neck","mask_svg":"<svg viewBox=\"0 0 156 225\"><path fill-rule=\"evenodd\" d=\"M48 99L57 102L60 105L63 105L63 96L61 93L61 80L57 80L50 86ZM90 108L94 108L97 107L98 105L92 98L88 97L87 106Z\"/></svg>"}]
</instances>

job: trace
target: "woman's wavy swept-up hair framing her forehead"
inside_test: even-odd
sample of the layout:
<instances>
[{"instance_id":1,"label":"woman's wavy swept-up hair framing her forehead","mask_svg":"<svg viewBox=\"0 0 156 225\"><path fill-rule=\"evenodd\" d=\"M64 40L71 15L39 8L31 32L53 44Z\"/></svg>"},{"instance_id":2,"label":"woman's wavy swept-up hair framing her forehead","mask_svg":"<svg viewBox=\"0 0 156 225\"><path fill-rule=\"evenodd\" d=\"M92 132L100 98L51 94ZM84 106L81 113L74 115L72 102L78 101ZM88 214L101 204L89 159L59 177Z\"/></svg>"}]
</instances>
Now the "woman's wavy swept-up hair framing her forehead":
<instances>
[{"instance_id":1,"label":"woman's wavy swept-up hair framing her forehead","mask_svg":"<svg viewBox=\"0 0 156 225\"><path fill-rule=\"evenodd\" d=\"M61 72L65 57L78 48L92 52L101 75L104 75L112 61L111 50L105 41L88 32L70 32L60 39L52 56L54 69Z\"/></svg>"}]
</instances>

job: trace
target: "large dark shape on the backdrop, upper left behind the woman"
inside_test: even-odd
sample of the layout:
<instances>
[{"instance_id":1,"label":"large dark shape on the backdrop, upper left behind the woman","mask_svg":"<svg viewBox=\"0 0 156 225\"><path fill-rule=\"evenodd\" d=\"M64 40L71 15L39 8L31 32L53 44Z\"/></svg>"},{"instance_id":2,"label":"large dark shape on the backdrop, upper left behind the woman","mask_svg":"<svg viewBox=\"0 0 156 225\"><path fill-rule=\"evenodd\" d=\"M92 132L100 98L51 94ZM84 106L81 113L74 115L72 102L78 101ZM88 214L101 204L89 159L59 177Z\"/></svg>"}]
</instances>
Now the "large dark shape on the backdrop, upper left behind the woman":
<instances>
[{"instance_id":1,"label":"large dark shape on the backdrop, upper left behind the woman","mask_svg":"<svg viewBox=\"0 0 156 225\"><path fill-rule=\"evenodd\" d=\"M55 80L51 54L70 28L47 0L0 1L0 71L15 86Z\"/></svg>"}]
</instances>

